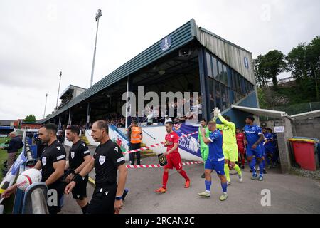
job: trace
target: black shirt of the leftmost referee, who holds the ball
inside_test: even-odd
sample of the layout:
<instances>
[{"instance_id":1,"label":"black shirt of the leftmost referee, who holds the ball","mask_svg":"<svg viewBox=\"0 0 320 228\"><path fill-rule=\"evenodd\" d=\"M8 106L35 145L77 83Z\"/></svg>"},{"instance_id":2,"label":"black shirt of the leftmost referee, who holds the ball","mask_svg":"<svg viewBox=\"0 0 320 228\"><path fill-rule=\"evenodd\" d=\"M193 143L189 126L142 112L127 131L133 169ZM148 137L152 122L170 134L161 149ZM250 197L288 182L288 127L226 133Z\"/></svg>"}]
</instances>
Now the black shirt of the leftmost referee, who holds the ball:
<instances>
[{"instance_id":1,"label":"black shirt of the leftmost referee, who holds the ball","mask_svg":"<svg viewBox=\"0 0 320 228\"><path fill-rule=\"evenodd\" d=\"M42 182L45 182L55 172L53 163L65 160L65 156L65 147L58 140L43 150L41 155Z\"/></svg>"}]
</instances>

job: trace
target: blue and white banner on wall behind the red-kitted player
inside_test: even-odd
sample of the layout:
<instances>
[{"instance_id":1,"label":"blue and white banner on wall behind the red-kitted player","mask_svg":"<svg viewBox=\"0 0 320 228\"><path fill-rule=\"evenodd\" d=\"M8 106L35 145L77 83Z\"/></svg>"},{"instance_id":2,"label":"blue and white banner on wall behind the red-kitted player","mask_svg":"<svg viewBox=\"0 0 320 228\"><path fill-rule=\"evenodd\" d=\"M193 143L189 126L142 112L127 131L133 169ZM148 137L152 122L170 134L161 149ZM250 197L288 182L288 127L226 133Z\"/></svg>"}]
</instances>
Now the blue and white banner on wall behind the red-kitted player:
<instances>
[{"instance_id":1,"label":"blue and white banner on wall behind the red-kitted player","mask_svg":"<svg viewBox=\"0 0 320 228\"><path fill-rule=\"evenodd\" d=\"M198 131L197 126L186 125L184 123L179 123L174 125L174 131L178 134L179 137L182 135L188 135ZM200 150L198 149L198 133L194 135L189 135L188 137L183 137L179 139L179 148L185 150L186 152L191 153L201 157Z\"/></svg>"}]
</instances>

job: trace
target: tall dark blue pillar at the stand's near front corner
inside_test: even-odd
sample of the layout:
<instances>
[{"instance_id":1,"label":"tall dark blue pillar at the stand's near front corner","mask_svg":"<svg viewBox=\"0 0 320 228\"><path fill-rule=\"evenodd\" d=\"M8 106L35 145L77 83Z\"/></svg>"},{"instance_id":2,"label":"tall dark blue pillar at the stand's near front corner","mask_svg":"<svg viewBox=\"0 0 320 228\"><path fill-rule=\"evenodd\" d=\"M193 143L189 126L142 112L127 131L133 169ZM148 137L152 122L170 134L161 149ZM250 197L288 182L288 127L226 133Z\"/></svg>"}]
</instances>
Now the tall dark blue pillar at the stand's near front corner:
<instances>
[{"instance_id":1,"label":"tall dark blue pillar at the stand's near front corner","mask_svg":"<svg viewBox=\"0 0 320 228\"><path fill-rule=\"evenodd\" d=\"M200 76L200 90L202 97L202 117L210 120L210 105L208 103L208 77L206 76L206 63L204 61L206 51L203 47L198 49L198 62L199 62L199 76Z\"/></svg>"}]
</instances>

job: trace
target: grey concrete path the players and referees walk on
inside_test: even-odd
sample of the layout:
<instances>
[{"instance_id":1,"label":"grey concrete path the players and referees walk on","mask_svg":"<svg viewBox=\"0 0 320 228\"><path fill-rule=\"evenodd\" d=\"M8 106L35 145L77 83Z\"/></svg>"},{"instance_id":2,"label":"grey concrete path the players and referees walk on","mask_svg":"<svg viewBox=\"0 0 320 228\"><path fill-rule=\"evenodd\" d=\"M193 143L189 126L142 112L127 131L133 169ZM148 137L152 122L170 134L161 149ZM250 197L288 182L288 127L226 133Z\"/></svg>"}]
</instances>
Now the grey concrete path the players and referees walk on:
<instances>
[{"instance_id":1,"label":"grey concrete path the players and referees walk on","mask_svg":"<svg viewBox=\"0 0 320 228\"><path fill-rule=\"evenodd\" d=\"M66 147L68 151L69 148ZM90 147L92 154L94 147ZM142 164L156 164L156 157L147 157ZM231 175L228 199L220 202L220 182L213 172L211 197L203 199L197 193L204 190L201 179L203 165L185 166L191 187L184 189L184 180L175 170L169 172L168 192L157 195L154 189L161 186L162 169L129 170L126 187L129 194L124 202L123 214L132 213L320 213L320 182L306 177L283 175L279 170L267 170L265 180L250 180L248 167L243 171L244 180ZM94 177L94 173L90 174ZM270 190L271 206L262 207L262 190ZM93 187L87 185L89 199ZM72 195L65 196L62 213L81 213Z\"/></svg>"}]
</instances>

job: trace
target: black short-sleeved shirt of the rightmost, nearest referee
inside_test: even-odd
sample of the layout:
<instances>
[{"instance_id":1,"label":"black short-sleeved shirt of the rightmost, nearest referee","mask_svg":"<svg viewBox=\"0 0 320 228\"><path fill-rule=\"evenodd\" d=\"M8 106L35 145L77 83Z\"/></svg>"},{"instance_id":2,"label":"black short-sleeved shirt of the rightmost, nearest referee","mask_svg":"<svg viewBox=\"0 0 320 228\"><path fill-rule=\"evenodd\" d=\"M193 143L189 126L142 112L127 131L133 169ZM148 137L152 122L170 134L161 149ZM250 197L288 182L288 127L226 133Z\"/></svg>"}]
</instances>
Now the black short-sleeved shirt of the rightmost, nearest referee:
<instances>
[{"instance_id":1,"label":"black short-sleeved shirt of the rightmost, nearest referee","mask_svg":"<svg viewBox=\"0 0 320 228\"><path fill-rule=\"evenodd\" d=\"M110 185L117 182L117 167L125 163L120 147L107 140L95 149L95 184Z\"/></svg>"}]
</instances>

